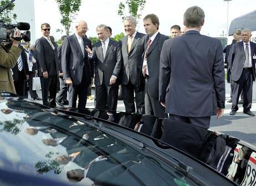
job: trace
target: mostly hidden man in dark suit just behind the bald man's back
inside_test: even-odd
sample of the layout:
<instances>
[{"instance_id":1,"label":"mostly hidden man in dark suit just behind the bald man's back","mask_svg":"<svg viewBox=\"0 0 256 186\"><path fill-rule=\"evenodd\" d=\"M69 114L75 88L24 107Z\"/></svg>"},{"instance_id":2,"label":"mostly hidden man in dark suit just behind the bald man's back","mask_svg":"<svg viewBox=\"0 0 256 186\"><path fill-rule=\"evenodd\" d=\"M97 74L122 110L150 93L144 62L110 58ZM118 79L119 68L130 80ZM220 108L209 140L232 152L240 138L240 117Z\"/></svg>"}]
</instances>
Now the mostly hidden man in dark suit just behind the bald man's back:
<instances>
[{"instance_id":1,"label":"mostly hidden man in dark suit just behind the bald man's back","mask_svg":"<svg viewBox=\"0 0 256 186\"><path fill-rule=\"evenodd\" d=\"M64 42L64 39L66 38L66 35L62 36L62 44ZM65 84L63 80L63 72L62 72L62 45L60 45L57 49L58 51L58 63L59 63L59 84L60 84L60 91L58 92L58 95L56 97L56 101L60 106L68 105L69 102L66 99L68 94L68 85Z\"/></svg>"}]
</instances>

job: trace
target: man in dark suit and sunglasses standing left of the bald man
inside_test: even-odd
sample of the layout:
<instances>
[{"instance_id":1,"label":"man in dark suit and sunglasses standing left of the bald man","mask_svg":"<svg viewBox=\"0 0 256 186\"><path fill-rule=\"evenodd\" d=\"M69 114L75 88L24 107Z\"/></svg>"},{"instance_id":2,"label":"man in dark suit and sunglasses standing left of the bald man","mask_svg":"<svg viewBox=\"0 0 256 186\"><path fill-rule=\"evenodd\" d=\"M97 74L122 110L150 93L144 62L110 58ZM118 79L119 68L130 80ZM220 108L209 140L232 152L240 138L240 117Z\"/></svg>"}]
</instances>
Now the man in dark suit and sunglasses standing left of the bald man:
<instances>
[{"instance_id":1,"label":"man in dark suit and sunglasses standing left of the bald man","mask_svg":"<svg viewBox=\"0 0 256 186\"><path fill-rule=\"evenodd\" d=\"M37 40L35 51L39 63L38 73L42 86L43 105L56 107L55 99L59 74L57 44L49 38L50 25L48 23L41 24L41 30L43 36Z\"/></svg>"}]
</instances>

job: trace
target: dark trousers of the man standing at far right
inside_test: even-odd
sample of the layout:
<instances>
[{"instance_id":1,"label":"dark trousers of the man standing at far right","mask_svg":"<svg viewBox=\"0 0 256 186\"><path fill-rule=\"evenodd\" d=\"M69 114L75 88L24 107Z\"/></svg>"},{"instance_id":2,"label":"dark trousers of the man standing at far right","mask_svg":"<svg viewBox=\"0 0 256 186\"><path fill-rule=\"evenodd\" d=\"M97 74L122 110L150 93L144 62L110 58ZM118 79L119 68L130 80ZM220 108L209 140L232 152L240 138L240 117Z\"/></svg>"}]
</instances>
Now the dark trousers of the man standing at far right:
<instances>
[{"instance_id":1,"label":"dark trousers of the man standing at far right","mask_svg":"<svg viewBox=\"0 0 256 186\"><path fill-rule=\"evenodd\" d=\"M239 95L243 90L243 108L247 112L252 108L253 100L253 70L252 68L243 68L242 74L238 81L233 81L233 99L232 111L238 110Z\"/></svg>"}]
</instances>

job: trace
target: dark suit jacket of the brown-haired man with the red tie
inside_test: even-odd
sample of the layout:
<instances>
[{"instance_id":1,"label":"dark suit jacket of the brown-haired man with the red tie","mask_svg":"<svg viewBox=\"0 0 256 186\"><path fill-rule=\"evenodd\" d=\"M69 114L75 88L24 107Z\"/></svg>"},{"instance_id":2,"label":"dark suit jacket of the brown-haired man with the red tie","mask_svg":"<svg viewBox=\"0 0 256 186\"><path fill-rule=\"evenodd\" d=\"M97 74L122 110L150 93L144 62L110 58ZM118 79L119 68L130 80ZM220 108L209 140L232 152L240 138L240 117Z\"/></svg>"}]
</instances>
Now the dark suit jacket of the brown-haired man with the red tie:
<instances>
[{"instance_id":1,"label":"dark suit jacket of the brown-haired man with the red tie","mask_svg":"<svg viewBox=\"0 0 256 186\"><path fill-rule=\"evenodd\" d=\"M145 56L147 40L149 40L149 36L145 35L145 51L142 55ZM159 98L158 84L159 84L159 65L160 65L160 54L163 42L168 39L166 35L158 33L150 44L149 51L147 53L147 69L149 70L149 80L145 85L145 90L149 92L151 97ZM142 70L142 69L141 69Z\"/></svg>"}]
</instances>

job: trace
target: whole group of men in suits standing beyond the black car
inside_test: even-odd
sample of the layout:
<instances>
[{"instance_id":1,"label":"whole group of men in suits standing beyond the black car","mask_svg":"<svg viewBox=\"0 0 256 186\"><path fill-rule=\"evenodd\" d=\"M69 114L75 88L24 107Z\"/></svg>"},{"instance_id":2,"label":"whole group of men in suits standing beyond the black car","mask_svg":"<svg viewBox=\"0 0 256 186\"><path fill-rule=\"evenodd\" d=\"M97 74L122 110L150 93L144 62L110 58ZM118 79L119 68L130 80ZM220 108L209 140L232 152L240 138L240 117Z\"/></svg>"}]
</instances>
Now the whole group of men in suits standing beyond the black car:
<instances>
[{"instance_id":1,"label":"whole group of men in suits standing beyond the black car","mask_svg":"<svg viewBox=\"0 0 256 186\"><path fill-rule=\"evenodd\" d=\"M50 25L43 23L43 36L35 44L43 104L56 107L57 101L84 109L94 78L95 108L107 110L110 120L116 111L121 85L126 112L169 117L209 128L212 115L218 118L223 115L225 81L221 42L199 33L204 24L203 10L197 6L188 8L184 14L185 28L173 25L170 39L158 32L160 22L155 14L148 14L143 22L146 35L136 31L134 17L124 18L127 35L119 42L110 38L109 27L100 24L96 27L99 42L92 45L86 37L88 25L80 20L75 33L62 38L58 50L50 39ZM250 36L249 29L242 30L242 41L232 44L226 55L232 74L231 115L238 110L243 90L244 113L254 116L250 107L256 45L249 42ZM23 61L25 55L21 54L20 58ZM14 75L18 74L22 80L33 76L33 68L30 70L28 65L23 63L22 75L19 63L16 66ZM14 78L14 84L22 90L19 80Z\"/></svg>"}]
</instances>

